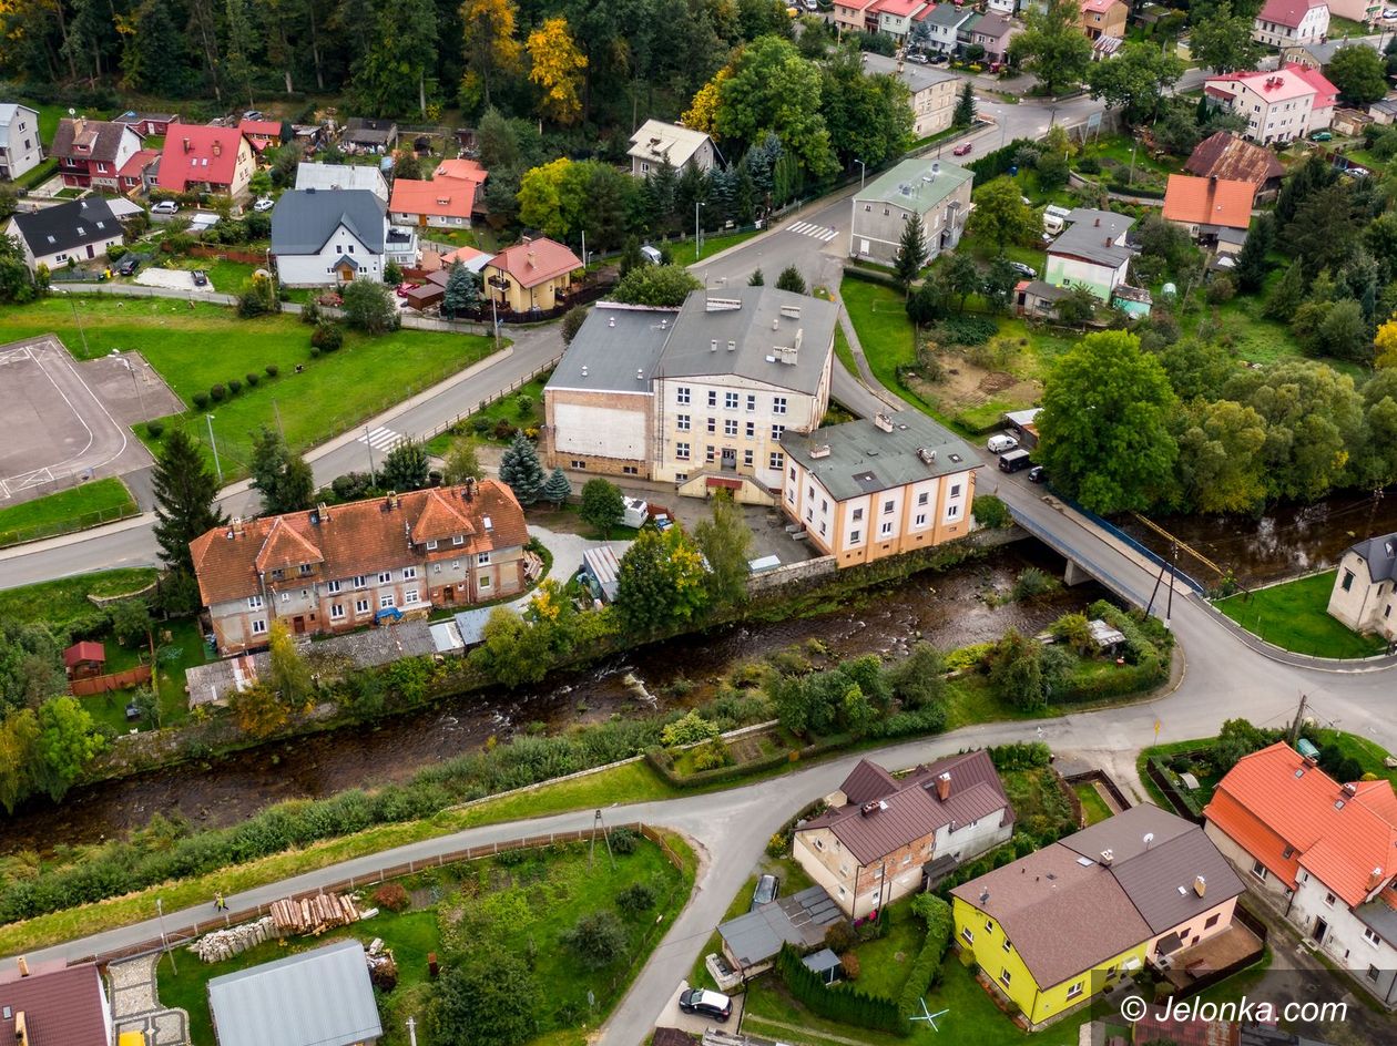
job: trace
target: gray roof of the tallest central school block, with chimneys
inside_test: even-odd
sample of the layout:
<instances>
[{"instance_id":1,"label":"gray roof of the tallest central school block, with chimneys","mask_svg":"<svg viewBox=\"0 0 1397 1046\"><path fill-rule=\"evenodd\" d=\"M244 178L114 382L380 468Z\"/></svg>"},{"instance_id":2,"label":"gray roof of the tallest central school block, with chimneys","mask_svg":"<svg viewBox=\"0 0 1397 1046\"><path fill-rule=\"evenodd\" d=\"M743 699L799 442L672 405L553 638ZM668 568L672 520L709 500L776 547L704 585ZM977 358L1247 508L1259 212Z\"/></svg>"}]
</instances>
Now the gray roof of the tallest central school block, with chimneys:
<instances>
[{"instance_id":1,"label":"gray roof of the tallest central school block, with chimneys","mask_svg":"<svg viewBox=\"0 0 1397 1046\"><path fill-rule=\"evenodd\" d=\"M736 300L742 306L714 307L724 300ZM736 374L813 395L830 362L838 314L833 302L771 286L696 290L679 310L657 376ZM798 334L802 348L795 355L795 363L782 363L774 351L795 346ZM717 352L712 351L714 341L718 342ZM726 348L729 341L733 342L731 352Z\"/></svg>"}]
</instances>

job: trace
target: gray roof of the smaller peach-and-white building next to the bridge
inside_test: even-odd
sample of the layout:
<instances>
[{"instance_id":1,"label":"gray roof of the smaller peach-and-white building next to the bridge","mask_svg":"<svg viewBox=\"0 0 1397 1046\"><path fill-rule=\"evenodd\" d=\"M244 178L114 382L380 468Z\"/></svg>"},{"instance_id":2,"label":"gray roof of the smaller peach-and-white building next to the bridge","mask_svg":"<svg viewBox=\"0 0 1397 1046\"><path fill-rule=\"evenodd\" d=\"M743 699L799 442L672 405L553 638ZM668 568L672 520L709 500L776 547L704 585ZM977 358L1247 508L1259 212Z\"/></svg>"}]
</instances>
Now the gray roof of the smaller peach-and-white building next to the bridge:
<instances>
[{"instance_id":1,"label":"gray roof of the smaller peach-and-white building next to the bridge","mask_svg":"<svg viewBox=\"0 0 1397 1046\"><path fill-rule=\"evenodd\" d=\"M866 418L810 434L787 432L781 448L838 501L964 472L979 464L963 439L919 411L900 411L891 420L893 432L883 432ZM830 452L812 455L812 450L823 447ZM921 451L935 451L936 457L928 462Z\"/></svg>"}]
</instances>

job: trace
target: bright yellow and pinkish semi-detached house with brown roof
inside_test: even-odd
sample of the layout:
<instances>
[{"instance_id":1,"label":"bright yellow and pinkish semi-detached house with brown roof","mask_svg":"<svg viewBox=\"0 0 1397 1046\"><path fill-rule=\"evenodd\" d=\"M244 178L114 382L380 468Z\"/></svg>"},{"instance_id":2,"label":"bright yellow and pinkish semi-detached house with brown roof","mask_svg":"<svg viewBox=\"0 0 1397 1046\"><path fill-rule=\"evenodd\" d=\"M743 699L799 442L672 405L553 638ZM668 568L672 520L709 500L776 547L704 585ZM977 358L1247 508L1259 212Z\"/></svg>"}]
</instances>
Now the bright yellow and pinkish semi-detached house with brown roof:
<instances>
[{"instance_id":1,"label":"bright yellow and pinkish semi-detached house with brown roof","mask_svg":"<svg viewBox=\"0 0 1397 1046\"><path fill-rule=\"evenodd\" d=\"M1245 891L1203 830L1144 804L951 891L956 941L1037 1026L1147 961L1187 964Z\"/></svg>"}]
</instances>

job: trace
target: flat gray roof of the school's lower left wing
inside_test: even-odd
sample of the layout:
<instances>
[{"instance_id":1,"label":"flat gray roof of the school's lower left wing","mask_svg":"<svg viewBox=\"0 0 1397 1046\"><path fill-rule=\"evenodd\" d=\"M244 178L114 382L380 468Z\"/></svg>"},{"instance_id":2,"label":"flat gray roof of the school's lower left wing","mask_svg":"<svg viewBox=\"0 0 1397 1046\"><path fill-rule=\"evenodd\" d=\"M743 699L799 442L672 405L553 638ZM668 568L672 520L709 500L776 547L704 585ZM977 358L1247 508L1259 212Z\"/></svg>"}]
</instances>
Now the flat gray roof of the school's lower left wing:
<instances>
[{"instance_id":1,"label":"flat gray roof of the school's lower left wing","mask_svg":"<svg viewBox=\"0 0 1397 1046\"><path fill-rule=\"evenodd\" d=\"M678 316L678 309L599 302L567 346L548 387L648 394ZM637 370L644 373L643 380L636 378Z\"/></svg>"}]
</instances>

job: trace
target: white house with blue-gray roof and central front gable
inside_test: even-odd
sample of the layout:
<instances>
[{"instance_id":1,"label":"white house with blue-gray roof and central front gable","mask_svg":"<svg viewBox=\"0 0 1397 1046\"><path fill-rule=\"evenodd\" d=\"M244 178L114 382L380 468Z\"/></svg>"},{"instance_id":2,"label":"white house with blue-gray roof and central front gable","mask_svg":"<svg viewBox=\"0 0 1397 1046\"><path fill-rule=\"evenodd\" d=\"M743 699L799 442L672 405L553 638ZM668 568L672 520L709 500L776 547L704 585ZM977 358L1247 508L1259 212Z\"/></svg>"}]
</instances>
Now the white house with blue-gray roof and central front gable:
<instances>
[{"instance_id":1,"label":"white house with blue-gray roof and central front gable","mask_svg":"<svg viewBox=\"0 0 1397 1046\"><path fill-rule=\"evenodd\" d=\"M286 286L383 279L388 218L366 189L282 193L271 212L271 253Z\"/></svg>"}]
</instances>

